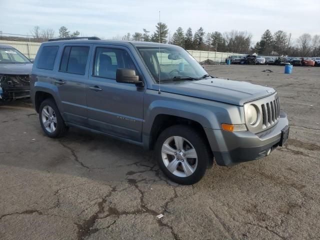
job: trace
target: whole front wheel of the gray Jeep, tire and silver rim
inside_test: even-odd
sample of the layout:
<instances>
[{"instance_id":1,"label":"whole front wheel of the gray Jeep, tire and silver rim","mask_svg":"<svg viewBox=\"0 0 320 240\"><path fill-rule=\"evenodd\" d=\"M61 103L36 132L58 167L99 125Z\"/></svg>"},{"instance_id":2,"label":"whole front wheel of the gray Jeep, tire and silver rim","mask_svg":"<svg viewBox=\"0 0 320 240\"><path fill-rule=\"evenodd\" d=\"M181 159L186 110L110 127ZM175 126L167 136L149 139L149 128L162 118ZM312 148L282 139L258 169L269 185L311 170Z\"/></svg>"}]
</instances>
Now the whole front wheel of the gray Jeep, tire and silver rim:
<instances>
[{"instance_id":1,"label":"whole front wheel of the gray Jeep, tire and silver rim","mask_svg":"<svg viewBox=\"0 0 320 240\"><path fill-rule=\"evenodd\" d=\"M199 181L213 160L202 135L187 125L174 125L163 130L156 140L154 153L164 174L185 185Z\"/></svg>"}]
</instances>

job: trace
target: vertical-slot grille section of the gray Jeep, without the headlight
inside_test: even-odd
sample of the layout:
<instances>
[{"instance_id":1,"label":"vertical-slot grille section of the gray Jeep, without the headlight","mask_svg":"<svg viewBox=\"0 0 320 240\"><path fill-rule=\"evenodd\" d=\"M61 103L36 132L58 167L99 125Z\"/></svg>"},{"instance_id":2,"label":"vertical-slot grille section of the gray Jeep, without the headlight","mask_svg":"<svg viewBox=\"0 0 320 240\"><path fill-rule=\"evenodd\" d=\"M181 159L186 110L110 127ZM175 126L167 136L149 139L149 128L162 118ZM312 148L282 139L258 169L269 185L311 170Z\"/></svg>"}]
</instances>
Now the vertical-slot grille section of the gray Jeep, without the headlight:
<instances>
[{"instance_id":1,"label":"vertical-slot grille section of the gray Jeep, without the headlight","mask_svg":"<svg viewBox=\"0 0 320 240\"><path fill-rule=\"evenodd\" d=\"M276 96L274 100L261 104L262 129L273 125L280 117L280 102Z\"/></svg>"}]
</instances>

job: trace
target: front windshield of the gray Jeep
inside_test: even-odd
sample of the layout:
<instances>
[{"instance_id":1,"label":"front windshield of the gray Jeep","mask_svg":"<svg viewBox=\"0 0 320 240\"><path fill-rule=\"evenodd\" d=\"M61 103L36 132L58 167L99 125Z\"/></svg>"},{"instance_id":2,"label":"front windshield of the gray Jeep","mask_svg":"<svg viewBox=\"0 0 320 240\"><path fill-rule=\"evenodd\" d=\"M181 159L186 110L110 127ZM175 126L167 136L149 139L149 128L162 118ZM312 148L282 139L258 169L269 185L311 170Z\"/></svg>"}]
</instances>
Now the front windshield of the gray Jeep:
<instances>
[{"instance_id":1,"label":"front windshield of the gray Jeep","mask_svg":"<svg viewBox=\"0 0 320 240\"><path fill-rule=\"evenodd\" d=\"M145 65L153 78L168 79L200 78L207 74L201 65L184 49L174 46L137 46ZM209 76L208 76L209 77Z\"/></svg>"}]
</instances>

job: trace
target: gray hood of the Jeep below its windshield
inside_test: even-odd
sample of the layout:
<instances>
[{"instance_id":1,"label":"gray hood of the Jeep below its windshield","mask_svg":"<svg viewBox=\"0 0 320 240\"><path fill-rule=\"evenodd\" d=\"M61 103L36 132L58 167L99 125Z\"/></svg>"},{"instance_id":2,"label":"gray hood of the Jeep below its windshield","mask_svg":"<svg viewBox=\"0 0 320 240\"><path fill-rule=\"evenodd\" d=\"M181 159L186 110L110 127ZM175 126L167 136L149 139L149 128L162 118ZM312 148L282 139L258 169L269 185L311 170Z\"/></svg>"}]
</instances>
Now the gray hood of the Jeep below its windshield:
<instances>
[{"instance_id":1,"label":"gray hood of the Jeep below its windshield","mask_svg":"<svg viewBox=\"0 0 320 240\"><path fill-rule=\"evenodd\" d=\"M153 84L154 90L158 84ZM261 98L275 92L271 87L256 85L245 81L210 78L198 81L179 81L161 84L161 91L194 96L208 100L243 105L244 102Z\"/></svg>"}]
</instances>

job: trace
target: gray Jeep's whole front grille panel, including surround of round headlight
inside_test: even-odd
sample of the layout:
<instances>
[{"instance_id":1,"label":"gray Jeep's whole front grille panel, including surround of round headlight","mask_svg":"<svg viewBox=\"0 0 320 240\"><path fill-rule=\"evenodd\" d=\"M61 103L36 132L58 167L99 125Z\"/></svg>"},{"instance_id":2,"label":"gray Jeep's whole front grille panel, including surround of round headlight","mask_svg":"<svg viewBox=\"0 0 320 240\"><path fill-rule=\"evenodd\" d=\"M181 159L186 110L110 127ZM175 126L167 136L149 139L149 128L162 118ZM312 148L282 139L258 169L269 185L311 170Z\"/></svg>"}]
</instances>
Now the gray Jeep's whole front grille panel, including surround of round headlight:
<instances>
[{"instance_id":1,"label":"gray Jeep's whole front grille panel, including surround of round headlight","mask_svg":"<svg viewBox=\"0 0 320 240\"><path fill-rule=\"evenodd\" d=\"M244 104L244 112L246 112L247 107L252 104L258 110L257 122L253 125L246 122L246 126L249 131L257 133L263 131L269 127L272 127L280 118L280 100L277 93L246 102ZM245 118L246 119L246 118Z\"/></svg>"}]
</instances>

